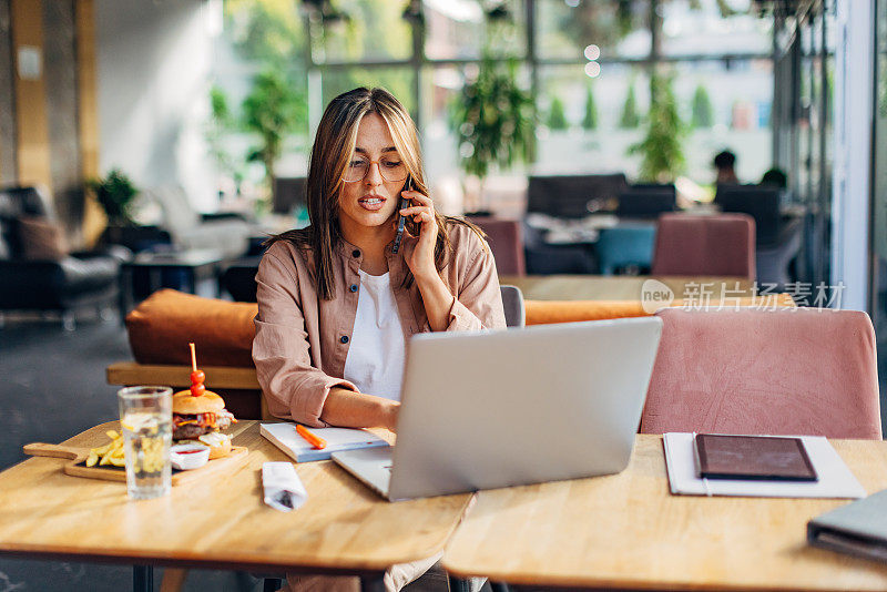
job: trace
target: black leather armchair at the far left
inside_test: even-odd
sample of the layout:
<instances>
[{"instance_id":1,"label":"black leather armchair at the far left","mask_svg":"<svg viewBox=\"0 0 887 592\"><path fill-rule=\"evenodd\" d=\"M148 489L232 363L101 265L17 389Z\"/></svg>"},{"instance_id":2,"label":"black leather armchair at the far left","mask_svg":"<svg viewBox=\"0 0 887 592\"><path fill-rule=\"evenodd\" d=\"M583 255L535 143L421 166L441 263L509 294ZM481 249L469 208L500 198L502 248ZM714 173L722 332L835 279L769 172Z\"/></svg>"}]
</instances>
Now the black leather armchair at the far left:
<instances>
[{"instance_id":1,"label":"black leather armchair at the far left","mask_svg":"<svg viewBox=\"0 0 887 592\"><path fill-rule=\"evenodd\" d=\"M26 258L19 220L52 218L50 202L37 187L0 190L0 310L45 310L73 327L73 310L112 305L118 296L120 263L130 252L106 247L72 253L59 261Z\"/></svg>"}]
</instances>

